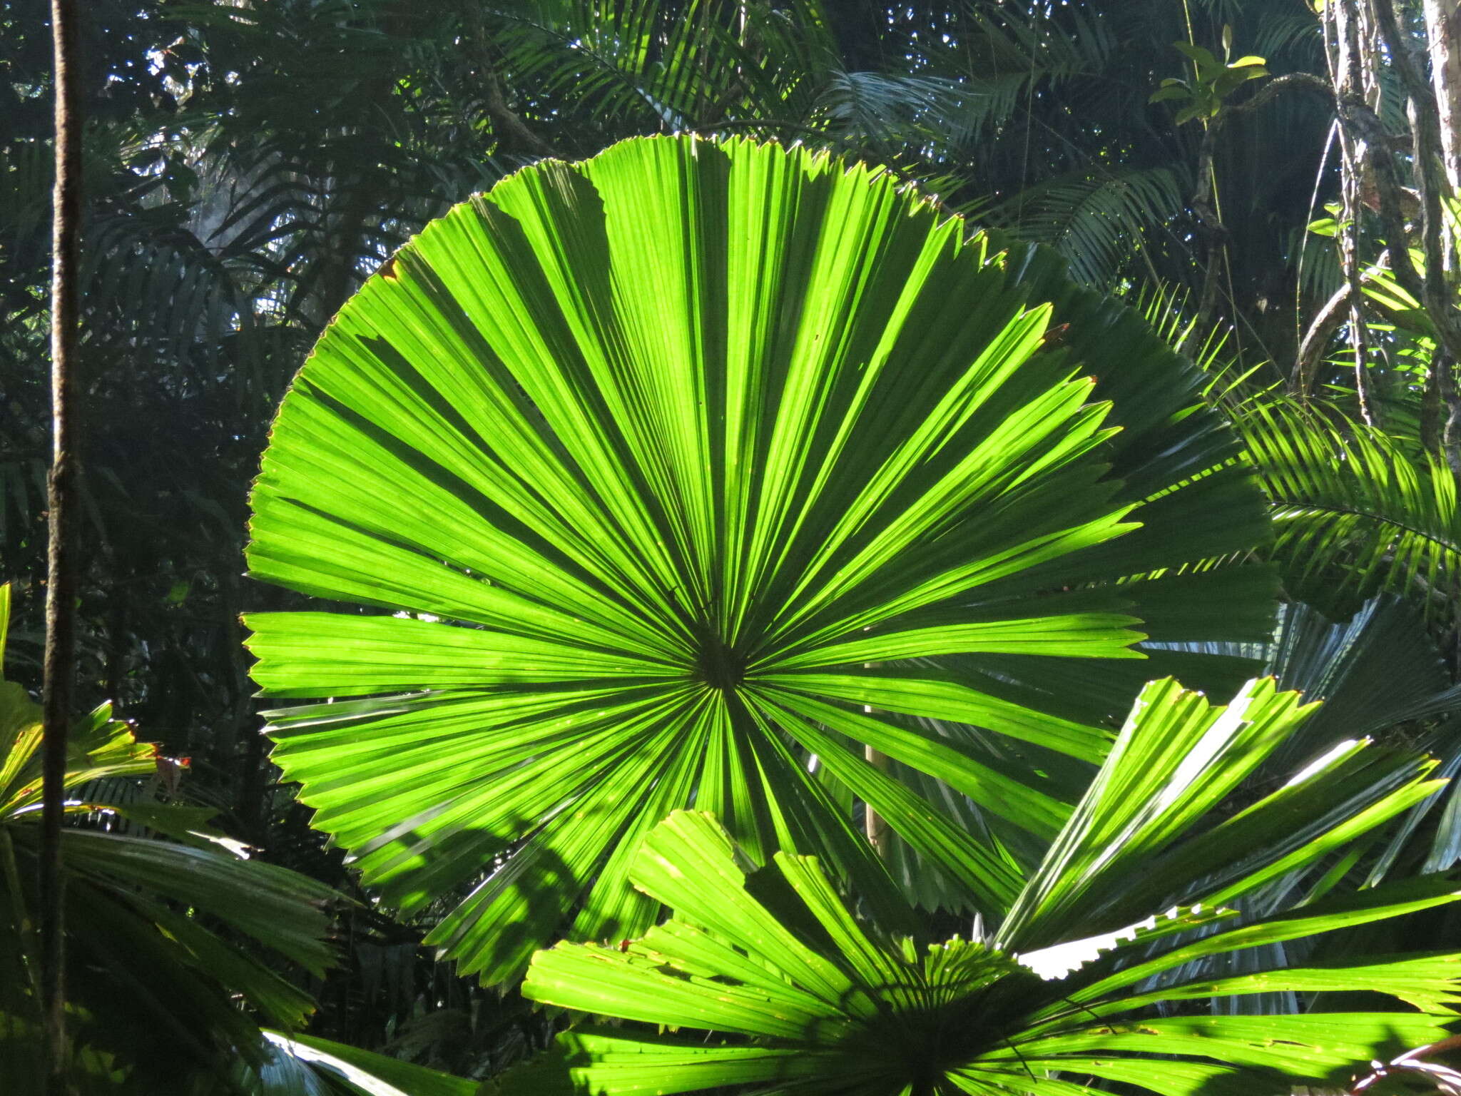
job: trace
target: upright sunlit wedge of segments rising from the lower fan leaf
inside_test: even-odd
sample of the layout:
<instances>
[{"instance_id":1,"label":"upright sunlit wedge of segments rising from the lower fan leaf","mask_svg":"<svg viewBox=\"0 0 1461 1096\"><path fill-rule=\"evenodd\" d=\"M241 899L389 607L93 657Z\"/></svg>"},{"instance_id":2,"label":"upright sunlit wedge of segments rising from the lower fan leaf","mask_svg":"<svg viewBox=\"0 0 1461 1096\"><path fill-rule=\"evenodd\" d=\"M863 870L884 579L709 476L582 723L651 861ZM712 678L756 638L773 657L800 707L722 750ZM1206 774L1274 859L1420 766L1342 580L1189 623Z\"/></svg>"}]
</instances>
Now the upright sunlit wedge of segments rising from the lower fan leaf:
<instances>
[{"instance_id":1,"label":"upright sunlit wedge of segments rising from the lower fan leaf","mask_svg":"<svg viewBox=\"0 0 1461 1096\"><path fill-rule=\"evenodd\" d=\"M1094 931L1138 921L1166 899L1230 902L1322 858L1433 795L1435 763L1350 742L1278 791L1207 821L1318 704L1251 682L1227 707L1157 681L1137 699L1107 764L1056 837L996 940L1043 947L1080 919ZM1286 820L1275 824L1275 820ZM1202 880L1198 891L1182 887Z\"/></svg>"}]
</instances>

